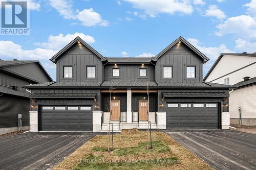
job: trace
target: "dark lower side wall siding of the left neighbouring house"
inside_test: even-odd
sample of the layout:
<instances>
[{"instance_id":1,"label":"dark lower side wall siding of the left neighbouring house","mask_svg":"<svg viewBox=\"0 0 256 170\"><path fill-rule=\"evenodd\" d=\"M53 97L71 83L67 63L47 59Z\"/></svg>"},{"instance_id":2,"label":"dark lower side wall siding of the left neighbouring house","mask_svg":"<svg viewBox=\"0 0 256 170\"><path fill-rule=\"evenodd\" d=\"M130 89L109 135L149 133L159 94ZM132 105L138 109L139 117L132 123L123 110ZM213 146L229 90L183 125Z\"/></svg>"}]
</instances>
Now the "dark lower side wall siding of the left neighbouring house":
<instances>
[{"instance_id":1,"label":"dark lower side wall siding of the left neighbouring house","mask_svg":"<svg viewBox=\"0 0 256 170\"><path fill-rule=\"evenodd\" d=\"M23 126L29 126L30 99L14 95L0 96L0 128L18 126L18 114L22 114Z\"/></svg>"}]
</instances>

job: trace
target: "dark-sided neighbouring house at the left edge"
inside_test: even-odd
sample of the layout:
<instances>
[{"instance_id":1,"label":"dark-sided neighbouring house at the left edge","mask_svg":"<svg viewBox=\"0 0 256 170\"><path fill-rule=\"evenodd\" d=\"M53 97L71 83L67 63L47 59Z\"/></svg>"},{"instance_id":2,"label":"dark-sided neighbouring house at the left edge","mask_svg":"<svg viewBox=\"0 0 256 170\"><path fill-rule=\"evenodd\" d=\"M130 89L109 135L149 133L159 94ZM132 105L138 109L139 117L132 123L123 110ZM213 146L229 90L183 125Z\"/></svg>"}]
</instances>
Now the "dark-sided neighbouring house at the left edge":
<instances>
[{"instance_id":1,"label":"dark-sided neighbouring house at the left edge","mask_svg":"<svg viewBox=\"0 0 256 170\"><path fill-rule=\"evenodd\" d=\"M0 59L0 134L17 131L18 114L22 114L23 130L30 128L30 92L22 86L49 81L39 61Z\"/></svg>"}]
</instances>

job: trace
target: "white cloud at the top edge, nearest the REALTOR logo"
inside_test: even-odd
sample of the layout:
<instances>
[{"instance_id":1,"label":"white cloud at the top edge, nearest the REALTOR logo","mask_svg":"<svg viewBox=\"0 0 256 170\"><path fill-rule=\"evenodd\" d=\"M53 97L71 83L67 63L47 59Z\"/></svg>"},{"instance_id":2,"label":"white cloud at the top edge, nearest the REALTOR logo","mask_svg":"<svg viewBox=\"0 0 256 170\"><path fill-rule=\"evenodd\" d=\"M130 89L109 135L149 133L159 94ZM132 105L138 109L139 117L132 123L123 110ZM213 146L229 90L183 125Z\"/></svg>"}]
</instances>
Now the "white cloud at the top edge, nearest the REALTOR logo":
<instances>
[{"instance_id":1,"label":"white cloud at the top edge, nearest the REALTOR logo","mask_svg":"<svg viewBox=\"0 0 256 170\"><path fill-rule=\"evenodd\" d=\"M58 11L65 19L73 19L81 21L81 25L91 26L109 26L109 21L102 19L101 15L95 12L92 8L82 11L74 10L72 1L69 0L49 0L50 5Z\"/></svg>"}]
</instances>

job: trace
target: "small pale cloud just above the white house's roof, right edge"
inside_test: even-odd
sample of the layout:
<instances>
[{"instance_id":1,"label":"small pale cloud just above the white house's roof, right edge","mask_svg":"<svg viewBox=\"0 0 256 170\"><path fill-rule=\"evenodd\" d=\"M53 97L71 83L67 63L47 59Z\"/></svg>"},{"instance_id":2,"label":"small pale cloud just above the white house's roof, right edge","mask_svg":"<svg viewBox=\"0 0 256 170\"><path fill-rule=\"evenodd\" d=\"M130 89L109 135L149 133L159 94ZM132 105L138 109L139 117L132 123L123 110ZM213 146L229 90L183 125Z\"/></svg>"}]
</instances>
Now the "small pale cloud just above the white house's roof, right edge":
<instances>
[{"instance_id":1,"label":"small pale cloud just above the white house's roof, right edge","mask_svg":"<svg viewBox=\"0 0 256 170\"><path fill-rule=\"evenodd\" d=\"M255 53L256 42L250 42L244 39L237 39L235 48L241 52Z\"/></svg>"}]
</instances>

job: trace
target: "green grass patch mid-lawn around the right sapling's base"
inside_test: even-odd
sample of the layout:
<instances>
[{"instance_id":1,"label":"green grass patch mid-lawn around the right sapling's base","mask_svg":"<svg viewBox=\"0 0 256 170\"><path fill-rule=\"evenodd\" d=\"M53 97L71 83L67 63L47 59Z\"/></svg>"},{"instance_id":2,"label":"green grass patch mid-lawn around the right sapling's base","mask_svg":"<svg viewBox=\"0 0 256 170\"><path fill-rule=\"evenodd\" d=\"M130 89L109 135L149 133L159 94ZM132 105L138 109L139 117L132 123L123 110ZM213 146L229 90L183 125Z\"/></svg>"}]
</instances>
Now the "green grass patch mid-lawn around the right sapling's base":
<instances>
[{"instance_id":1,"label":"green grass patch mid-lawn around the right sapling's base","mask_svg":"<svg viewBox=\"0 0 256 170\"><path fill-rule=\"evenodd\" d=\"M162 141L157 140L152 142L153 149L146 149L147 142L140 142L138 147L129 147L129 148L117 148L114 150L115 156L124 156L124 155L141 155L141 154L147 154L147 153L163 153L163 152L169 152L169 147ZM150 143L149 143L150 147Z\"/></svg>"}]
</instances>

